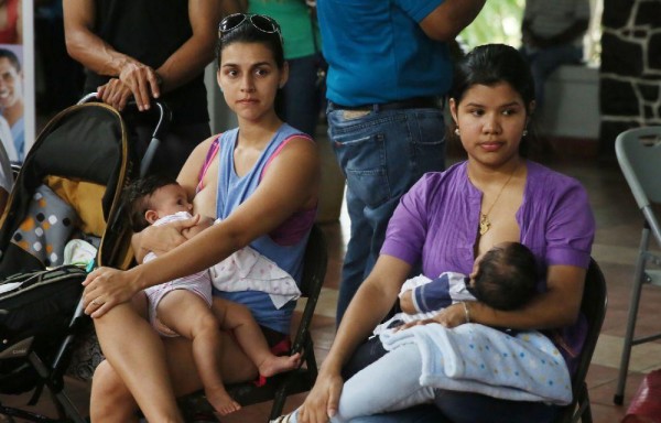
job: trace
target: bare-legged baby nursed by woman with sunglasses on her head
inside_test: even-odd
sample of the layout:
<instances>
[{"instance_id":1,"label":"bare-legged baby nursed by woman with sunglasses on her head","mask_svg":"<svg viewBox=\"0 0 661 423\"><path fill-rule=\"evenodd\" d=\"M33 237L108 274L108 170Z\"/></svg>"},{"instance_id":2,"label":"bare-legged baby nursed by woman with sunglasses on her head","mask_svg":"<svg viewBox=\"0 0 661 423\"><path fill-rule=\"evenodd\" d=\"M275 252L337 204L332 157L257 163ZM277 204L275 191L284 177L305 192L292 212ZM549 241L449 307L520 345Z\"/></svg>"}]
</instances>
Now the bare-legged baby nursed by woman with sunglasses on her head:
<instances>
[{"instance_id":1,"label":"bare-legged baby nursed by woman with sunglasses on her head","mask_svg":"<svg viewBox=\"0 0 661 423\"><path fill-rule=\"evenodd\" d=\"M193 205L185 189L166 176L147 176L124 192L124 206L134 231L150 225L189 218ZM212 219L182 232L187 239L213 225ZM148 253L144 261L155 257ZM226 415L241 406L225 390L219 372L221 330L231 332L261 376L269 377L300 365L301 356L274 356L250 311L243 305L223 299L212 299L212 281L207 270L144 290L149 318L164 336L184 336L193 340L193 358L205 388L207 400L216 411ZM214 314L210 305L215 304ZM220 318L219 316L223 316Z\"/></svg>"}]
</instances>

